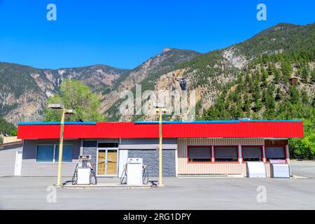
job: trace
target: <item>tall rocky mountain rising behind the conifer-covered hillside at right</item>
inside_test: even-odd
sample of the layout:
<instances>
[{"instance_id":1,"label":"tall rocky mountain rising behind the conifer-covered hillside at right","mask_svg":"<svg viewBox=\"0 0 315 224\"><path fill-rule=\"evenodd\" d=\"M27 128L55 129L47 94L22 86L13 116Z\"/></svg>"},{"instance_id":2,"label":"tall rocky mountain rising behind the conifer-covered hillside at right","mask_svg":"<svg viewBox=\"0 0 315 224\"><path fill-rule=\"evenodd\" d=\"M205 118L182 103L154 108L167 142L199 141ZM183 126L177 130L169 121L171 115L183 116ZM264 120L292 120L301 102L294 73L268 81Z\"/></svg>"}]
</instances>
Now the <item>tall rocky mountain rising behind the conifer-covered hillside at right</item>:
<instances>
[{"instance_id":1,"label":"tall rocky mountain rising behind the conifer-covered hillside at right","mask_svg":"<svg viewBox=\"0 0 315 224\"><path fill-rule=\"evenodd\" d=\"M270 27L248 40L222 50L214 50L198 55L188 62L176 66L165 73L154 87L155 91L167 86L179 89L179 80L186 83L187 90L196 90L197 113L209 109L216 102L218 95L227 85L234 83L241 71L246 71L255 59L262 55L314 55L315 23L311 25L292 25L281 23ZM303 57L303 56L302 56ZM293 61L287 63L293 63ZM314 68L314 59L309 59L310 69ZM294 64L290 64L294 66ZM290 73L294 76L295 73ZM146 83L143 83L146 85ZM299 85L300 88L304 87ZM314 96L314 83L307 85L310 97ZM142 117L141 119L152 119ZM169 119L182 119L170 116Z\"/></svg>"}]
</instances>

